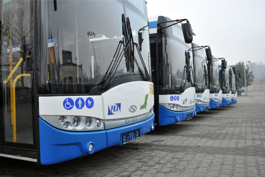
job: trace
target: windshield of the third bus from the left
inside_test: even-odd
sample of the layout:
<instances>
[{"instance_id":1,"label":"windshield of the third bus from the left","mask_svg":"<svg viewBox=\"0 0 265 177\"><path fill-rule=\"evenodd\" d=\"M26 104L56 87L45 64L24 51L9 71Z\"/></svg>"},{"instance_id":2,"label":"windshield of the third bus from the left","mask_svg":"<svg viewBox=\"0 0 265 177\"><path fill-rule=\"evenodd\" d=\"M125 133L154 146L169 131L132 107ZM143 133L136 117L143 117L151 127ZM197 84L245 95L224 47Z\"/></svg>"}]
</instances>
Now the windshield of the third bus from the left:
<instances>
[{"instance_id":1,"label":"windshield of the third bus from the left","mask_svg":"<svg viewBox=\"0 0 265 177\"><path fill-rule=\"evenodd\" d=\"M196 48L195 48L196 49ZM194 82L196 92L204 91L207 82L207 67L203 49L194 51ZM205 66L205 67L204 67ZM206 73L204 73L204 68ZM206 75L206 76L205 76Z\"/></svg>"}]
</instances>

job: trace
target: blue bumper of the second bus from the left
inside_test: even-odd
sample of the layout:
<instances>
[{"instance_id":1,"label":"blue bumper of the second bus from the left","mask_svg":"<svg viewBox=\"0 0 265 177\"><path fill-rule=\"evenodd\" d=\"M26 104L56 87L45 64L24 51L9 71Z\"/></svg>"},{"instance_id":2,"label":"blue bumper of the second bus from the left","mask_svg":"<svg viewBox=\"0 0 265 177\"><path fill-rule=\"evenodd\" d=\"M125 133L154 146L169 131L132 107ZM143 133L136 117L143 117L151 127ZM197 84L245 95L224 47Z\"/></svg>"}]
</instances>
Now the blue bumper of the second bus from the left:
<instances>
[{"instance_id":1,"label":"blue bumper of the second bus from the left","mask_svg":"<svg viewBox=\"0 0 265 177\"><path fill-rule=\"evenodd\" d=\"M158 107L159 107L158 108L159 126L170 125L170 124L177 123L183 120L187 120L188 114L192 114L192 117L196 115L196 111L195 111L196 108L192 110L184 111L184 112L176 112L176 111L171 111L169 109L166 109L161 105L158 105Z\"/></svg>"}]
</instances>

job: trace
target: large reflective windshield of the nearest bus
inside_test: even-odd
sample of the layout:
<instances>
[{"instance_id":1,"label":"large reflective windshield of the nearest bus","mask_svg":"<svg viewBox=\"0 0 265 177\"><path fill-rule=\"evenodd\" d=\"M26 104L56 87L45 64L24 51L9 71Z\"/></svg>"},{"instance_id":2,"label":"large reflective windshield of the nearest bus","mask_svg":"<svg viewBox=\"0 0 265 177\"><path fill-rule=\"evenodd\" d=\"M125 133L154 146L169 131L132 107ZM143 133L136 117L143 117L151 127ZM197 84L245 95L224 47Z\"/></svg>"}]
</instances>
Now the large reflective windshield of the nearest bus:
<instances>
[{"instance_id":1,"label":"large reflective windshield of the nearest bus","mask_svg":"<svg viewBox=\"0 0 265 177\"><path fill-rule=\"evenodd\" d=\"M145 6L139 4L143 1L137 3L133 5ZM127 40L122 15L126 14L134 42L138 43L139 30L141 32L139 48L145 65L150 66L148 24L142 16L146 13L143 8L142 12L132 13L119 1L57 1L56 8L53 1L42 1L41 7L37 43L38 94L90 94L94 87L105 82L112 66L119 63L116 56L120 54L122 57L110 88L146 79L137 50L133 71L127 59L131 53L123 50Z\"/></svg>"}]
</instances>

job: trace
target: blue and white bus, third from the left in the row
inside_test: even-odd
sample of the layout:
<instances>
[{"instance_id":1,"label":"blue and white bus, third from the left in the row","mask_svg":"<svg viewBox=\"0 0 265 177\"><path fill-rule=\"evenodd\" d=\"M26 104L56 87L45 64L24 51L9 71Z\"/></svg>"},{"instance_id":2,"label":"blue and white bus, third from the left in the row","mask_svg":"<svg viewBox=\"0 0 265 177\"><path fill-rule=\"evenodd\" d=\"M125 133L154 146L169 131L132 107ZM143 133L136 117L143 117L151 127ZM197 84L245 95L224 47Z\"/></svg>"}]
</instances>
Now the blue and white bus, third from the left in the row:
<instances>
[{"instance_id":1,"label":"blue and white bus, third from the left in the row","mask_svg":"<svg viewBox=\"0 0 265 177\"><path fill-rule=\"evenodd\" d=\"M210 89L208 86L207 61L212 60L212 53L209 46L198 46L192 43L188 51L193 53L193 73L195 82L195 107L196 113L210 109ZM205 49L205 51L203 50Z\"/></svg>"}]
</instances>

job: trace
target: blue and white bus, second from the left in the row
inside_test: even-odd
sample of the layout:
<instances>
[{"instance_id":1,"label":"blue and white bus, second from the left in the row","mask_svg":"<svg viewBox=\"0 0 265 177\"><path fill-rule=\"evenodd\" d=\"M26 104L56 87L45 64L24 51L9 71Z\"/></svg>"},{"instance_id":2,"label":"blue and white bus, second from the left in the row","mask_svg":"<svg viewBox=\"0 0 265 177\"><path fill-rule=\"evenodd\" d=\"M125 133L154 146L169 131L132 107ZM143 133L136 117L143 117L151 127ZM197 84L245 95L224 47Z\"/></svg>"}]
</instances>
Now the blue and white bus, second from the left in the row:
<instances>
[{"instance_id":1,"label":"blue and white bus, second from the left in the row","mask_svg":"<svg viewBox=\"0 0 265 177\"><path fill-rule=\"evenodd\" d=\"M177 24L183 21L187 22ZM155 123L164 126L191 119L196 112L190 23L156 16L149 18L149 29Z\"/></svg>"}]
</instances>

